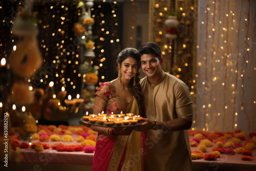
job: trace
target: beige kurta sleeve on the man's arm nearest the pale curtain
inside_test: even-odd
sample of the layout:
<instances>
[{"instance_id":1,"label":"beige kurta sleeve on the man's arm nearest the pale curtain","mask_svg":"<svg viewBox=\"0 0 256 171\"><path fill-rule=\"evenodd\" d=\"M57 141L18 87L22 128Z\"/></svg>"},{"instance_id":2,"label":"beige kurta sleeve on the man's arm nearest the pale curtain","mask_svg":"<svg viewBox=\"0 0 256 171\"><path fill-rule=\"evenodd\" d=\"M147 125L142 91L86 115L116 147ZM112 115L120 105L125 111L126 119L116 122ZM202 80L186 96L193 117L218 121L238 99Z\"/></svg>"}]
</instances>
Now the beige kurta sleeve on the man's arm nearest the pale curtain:
<instances>
[{"instance_id":1,"label":"beige kurta sleeve on the man's arm nearest the pale curtain","mask_svg":"<svg viewBox=\"0 0 256 171\"><path fill-rule=\"evenodd\" d=\"M175 89L175 110L178 118L193 121L193 100L185 83L179 84Z\"/></svg>"}]
</instances>

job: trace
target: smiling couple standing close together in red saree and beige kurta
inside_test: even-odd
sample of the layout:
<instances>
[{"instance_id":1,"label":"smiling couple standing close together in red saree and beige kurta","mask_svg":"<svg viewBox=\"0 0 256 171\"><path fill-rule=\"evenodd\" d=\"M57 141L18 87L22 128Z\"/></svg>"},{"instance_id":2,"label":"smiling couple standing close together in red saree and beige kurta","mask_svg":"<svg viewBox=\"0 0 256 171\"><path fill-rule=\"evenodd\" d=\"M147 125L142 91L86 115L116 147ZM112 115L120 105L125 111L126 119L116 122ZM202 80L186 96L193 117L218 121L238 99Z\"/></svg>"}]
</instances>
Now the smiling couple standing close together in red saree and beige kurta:
<instances>
[{"instance_id":1,"label":"smiling couple standing close together in red saree and beige kurta","mask_svg":"<svg viewBox=\"0 0 256 171\"><path fill-rule=\"evenodd\" d=\"M193 119L186 84L162 71L161 49L147 42L117 58L118 78L101 84L94 113L134 113L142 125L93 126L98 132L93 170L193 170L187 130ZM139 68L146 77L139 79Z\"/></svg>"}]
</instances>

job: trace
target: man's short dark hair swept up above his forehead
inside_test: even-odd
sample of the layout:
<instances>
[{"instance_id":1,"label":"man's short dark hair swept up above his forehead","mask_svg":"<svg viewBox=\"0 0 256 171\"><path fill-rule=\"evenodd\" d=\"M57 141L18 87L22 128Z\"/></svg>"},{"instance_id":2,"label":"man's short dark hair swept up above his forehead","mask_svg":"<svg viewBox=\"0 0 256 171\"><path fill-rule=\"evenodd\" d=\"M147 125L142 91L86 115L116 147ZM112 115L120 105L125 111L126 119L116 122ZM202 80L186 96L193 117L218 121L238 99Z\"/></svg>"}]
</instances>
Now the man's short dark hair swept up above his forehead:
<instances>
[{"instance_id":1,"label":"man's short dark hair swept up above his forehead","mask_svg":"<svg viewBox=\"0 0 256 171\"><path fill-rule=\"evenodd\" d=\"M161 59L161 49L154 42L147 42L140 47L140 50L139 50L140 57L143 54L155 54L159 60Z\"/></svg>"}]
</instances>

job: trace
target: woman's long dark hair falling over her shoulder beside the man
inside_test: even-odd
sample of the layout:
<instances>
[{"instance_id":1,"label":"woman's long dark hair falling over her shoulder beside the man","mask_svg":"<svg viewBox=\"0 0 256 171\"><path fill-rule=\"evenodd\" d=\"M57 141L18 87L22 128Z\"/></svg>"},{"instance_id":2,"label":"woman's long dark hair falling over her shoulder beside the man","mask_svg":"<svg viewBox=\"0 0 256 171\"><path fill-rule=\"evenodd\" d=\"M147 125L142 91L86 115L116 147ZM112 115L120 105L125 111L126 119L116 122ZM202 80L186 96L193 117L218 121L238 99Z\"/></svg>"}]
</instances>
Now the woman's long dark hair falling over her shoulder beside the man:
<instances>
[{"instance_id":1,"label":"woman's long dark hair falling over her shoulder beside the man","mask_svg":"<svg viewBox=\"0 0 256 171\"><path fill-rule=\"evenodd\" d=\"M135 86L133 86L133 82L134 82L134 77L129 81L129 87L133 88L133 93L134 93L134 97L136 98L138 105L141 106L142 104L142 93L141 93L141 85L140 85L140 56L139 53L136 49L134 48L125 48L124 50L122 50L116 60L116 64L118 65L118 63L120 63L120 66L122 65L122 62L128 58L128 57L132 57L134 58L137 62L138 62L138 68L137 68L137 73L136 73L136 83ZM117 67L118 70L118 67Z\"/></svg>"}]
</instances>

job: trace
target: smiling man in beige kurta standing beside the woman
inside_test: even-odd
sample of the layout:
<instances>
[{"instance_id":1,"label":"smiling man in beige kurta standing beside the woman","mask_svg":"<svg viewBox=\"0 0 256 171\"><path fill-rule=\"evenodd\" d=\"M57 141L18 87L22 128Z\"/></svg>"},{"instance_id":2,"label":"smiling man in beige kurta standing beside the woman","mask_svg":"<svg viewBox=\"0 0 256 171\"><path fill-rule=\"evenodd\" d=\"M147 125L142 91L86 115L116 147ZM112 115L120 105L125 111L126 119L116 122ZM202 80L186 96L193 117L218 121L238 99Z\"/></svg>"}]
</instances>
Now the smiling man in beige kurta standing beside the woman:
<instances>
[{"instance_id":1,"label":"smiling man in beige kurta standing beside the woman","mask_svg":"<svg viewBox=\"0 0 256 171\"><path fill-rule=\"evenodd\" d=\"M136 131L146 131L145 170L193 170L187 132L193 119L189 89L183 81L162 71L163 59L157 57L156 44L145 46L153 46L149 52L142 46L140 53L141 68L147 75L140 81L145 118L135 127Z\"/></svg>"}]
</instances>

